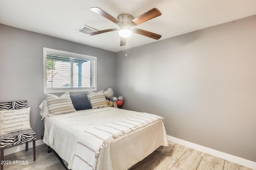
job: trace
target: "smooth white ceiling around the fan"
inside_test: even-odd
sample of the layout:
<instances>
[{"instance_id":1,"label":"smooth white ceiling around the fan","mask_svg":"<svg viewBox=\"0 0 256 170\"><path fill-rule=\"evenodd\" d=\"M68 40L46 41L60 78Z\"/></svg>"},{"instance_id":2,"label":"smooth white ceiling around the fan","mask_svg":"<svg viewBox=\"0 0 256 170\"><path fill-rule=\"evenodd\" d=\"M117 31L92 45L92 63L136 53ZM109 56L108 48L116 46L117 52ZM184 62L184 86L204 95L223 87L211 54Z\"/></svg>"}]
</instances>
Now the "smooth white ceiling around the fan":
<instances>
[{"instance_id":1,"label":"smooth white ceiling around the fan","mask_svg":"<svg viewBox=\"0 0 256 170\"><path fill-rule=\"evenodd\" d=\"M110 20L92 12L91 7L101 8L114 17L127 13L134 18L152 8L158 8L162 16L137 25L136 28L162 37L154 40L134 33L128 38L127 44L120 47L120 37L115 31L94 36L78 32L83 25L98 30L119 28ZM2 24L113 52L254 14L256 0L0 0Z\"/></svg>"}]
</instances>

